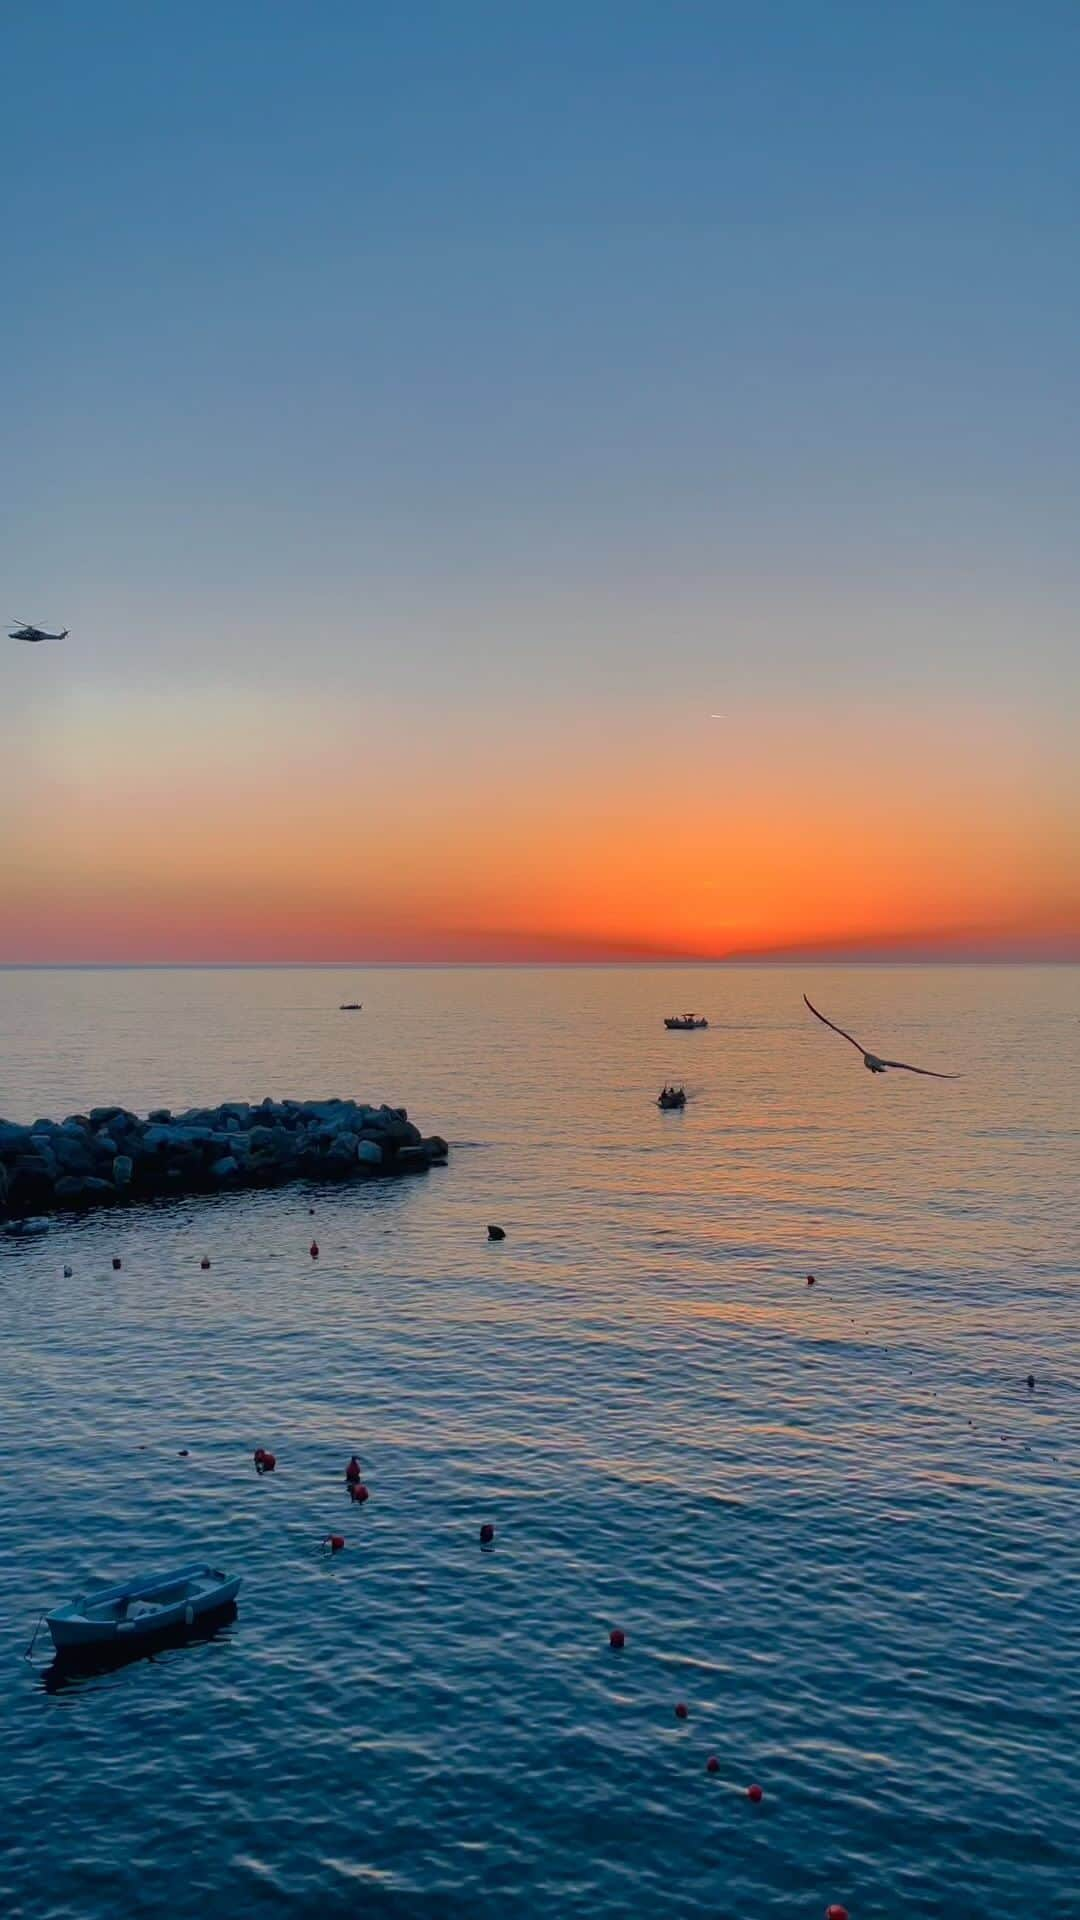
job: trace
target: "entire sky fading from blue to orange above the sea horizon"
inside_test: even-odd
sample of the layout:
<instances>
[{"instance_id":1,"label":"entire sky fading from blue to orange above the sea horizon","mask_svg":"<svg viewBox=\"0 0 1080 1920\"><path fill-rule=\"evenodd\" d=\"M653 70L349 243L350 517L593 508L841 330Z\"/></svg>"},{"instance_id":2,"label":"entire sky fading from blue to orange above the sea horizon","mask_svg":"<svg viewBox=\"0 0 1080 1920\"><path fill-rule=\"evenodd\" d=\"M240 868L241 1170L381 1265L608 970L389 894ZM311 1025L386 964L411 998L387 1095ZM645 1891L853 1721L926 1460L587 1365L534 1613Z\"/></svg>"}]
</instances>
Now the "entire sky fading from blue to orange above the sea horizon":
<instances>
[{"instance_id":1,"label":"entire sky fading from blue to orange above the sea horizon","mask_svg":"<svg viewBox=\"0 0 1080 1920\"><path fill-rule=\"evenodd\" d=\"M0 48L0 964L1080 958L1074 0Z\"/></svg>"}]
</instances>

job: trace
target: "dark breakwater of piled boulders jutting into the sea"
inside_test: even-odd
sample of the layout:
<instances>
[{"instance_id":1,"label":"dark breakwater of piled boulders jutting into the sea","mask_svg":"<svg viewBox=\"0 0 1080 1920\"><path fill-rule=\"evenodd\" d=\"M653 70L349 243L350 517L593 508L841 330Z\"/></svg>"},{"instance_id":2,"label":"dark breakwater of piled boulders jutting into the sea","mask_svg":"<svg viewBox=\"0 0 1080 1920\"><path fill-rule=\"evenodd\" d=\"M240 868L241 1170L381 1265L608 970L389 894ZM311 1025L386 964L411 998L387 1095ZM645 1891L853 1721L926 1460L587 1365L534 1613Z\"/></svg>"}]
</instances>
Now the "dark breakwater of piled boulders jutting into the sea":
<instances>
[{"instance_id":1,"label":"dark breakwater of piled boulders jutting into the sea","mask_svg":"<svg viewBox=\"0 0 1080 1920\"><path fill-rule=\"evenodd\" d=\"M229 1100L140 1119L96 1106L21 1127L0 1119L0 1219L161 1194L279 1187L282 1181L423 1173L448 1146L404 1106L356 1100Z\"/></svg>"}]
</instances>

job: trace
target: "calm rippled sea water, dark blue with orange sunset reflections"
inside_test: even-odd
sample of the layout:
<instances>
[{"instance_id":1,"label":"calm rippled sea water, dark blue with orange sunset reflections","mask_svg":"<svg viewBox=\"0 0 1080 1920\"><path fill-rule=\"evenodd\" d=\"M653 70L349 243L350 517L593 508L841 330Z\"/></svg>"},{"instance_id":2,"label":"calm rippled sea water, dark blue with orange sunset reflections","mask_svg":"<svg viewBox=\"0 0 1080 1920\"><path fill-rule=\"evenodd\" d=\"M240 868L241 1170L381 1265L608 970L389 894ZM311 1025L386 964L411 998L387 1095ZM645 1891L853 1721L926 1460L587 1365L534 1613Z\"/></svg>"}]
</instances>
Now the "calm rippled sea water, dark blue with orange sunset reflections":
<instances>
[{"instance_id":1,"label":"calm rippled sea water, dark blue with orange sunset reflections","mask_svg":"<svg viewBox=\"0 0 1080 1920\"><path fill-rule=\"evenodd\" d=\"M803 987L967 1077L872 1079ZM0 1236L4 1912L1076 1916L1078 1016L1068 970L0 973L8 1117L454 1142ZM219 1638L23 1661L204 1555Z\"/></svg>"}]
</instances>

